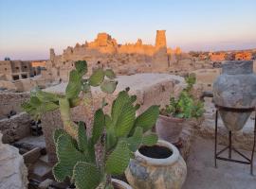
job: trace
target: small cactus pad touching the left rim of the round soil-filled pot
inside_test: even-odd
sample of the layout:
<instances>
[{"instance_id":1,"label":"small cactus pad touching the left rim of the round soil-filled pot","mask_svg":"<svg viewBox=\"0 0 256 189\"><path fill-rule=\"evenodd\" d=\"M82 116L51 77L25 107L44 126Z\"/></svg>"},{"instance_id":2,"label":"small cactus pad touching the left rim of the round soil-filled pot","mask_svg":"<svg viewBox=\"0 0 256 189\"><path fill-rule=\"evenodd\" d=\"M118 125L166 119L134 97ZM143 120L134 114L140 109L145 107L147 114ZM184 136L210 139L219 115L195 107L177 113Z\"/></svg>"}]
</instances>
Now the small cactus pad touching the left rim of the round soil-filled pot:
<instances>
[{"instance_id":1,"label":"small cactus pad touching the left rim of the round soil-filled pot","mask_svg":"<svg viewBox=\"0 0 256 189\"><path fill-rule=\"evenodd\" d=\"M127 143L131 151L135 152L142 142L143 129L137 127L133 136L127 138Z\"/></svg>"}]
</instances>

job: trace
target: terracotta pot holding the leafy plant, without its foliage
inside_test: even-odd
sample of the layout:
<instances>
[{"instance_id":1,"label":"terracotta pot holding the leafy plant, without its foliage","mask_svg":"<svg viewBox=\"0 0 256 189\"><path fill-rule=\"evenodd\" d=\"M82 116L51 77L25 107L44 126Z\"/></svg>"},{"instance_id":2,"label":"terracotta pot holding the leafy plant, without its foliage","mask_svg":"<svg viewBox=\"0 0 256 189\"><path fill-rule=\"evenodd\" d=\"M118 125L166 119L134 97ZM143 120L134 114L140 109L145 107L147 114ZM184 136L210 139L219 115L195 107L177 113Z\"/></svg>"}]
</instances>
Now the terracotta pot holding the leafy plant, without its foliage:
<instances>
[{"instance_id":1,"label":"terracotta pot holding the leafy plant, without its foliage","mask_svg":"<svg viewBox=\"0 0 256 189\"><path fill-rule=\"evenodd\" d=\"M168 141L172 144L177 144L184 121L185 119L159 115L155 124L157 136L159 139Z\"/></svg>"}]
</instances>

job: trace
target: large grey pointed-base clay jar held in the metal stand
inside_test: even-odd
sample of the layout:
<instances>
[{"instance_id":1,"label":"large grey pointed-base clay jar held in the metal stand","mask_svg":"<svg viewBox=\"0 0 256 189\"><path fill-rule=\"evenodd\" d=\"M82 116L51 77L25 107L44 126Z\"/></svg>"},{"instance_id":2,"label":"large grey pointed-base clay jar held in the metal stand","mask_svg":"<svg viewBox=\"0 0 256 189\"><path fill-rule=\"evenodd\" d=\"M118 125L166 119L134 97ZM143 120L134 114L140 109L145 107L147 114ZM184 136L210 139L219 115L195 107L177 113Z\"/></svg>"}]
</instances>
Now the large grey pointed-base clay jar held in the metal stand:
<instances>
[{"instance_id":1,"label":"large grey pointed-base clay jar held in the metal stand","mask_svg":"<svg viewBox=\"0 0 256 189\"><path fill-rule=\"evenodd\" d=\"M228 61L213 83L213 102L221 107L248 109L256 106L256 75L253 61ZM243 129L251 112L220 110L224 125L232 131Z\"/></svg>"}]
</instances>

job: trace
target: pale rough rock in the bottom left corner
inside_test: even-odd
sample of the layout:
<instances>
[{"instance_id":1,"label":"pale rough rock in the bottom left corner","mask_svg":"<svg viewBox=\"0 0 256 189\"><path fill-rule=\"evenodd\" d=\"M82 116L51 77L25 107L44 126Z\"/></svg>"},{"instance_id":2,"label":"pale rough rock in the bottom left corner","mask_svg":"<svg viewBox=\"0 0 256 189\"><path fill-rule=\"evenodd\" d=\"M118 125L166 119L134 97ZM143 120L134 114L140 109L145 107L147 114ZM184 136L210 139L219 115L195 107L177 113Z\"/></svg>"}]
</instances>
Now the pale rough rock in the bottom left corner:
<instances>
[{"instance_id":1,"label":"pale rough rock in the bottom left corner","mask_svg":"<svg viewBox=\"0 0 256 189\"><path fill-rule=\"evenodd\" d=\"M0 189L26 189L27 167L19 150L2 143L0 133Z\"/></svg>"}]
</instances>

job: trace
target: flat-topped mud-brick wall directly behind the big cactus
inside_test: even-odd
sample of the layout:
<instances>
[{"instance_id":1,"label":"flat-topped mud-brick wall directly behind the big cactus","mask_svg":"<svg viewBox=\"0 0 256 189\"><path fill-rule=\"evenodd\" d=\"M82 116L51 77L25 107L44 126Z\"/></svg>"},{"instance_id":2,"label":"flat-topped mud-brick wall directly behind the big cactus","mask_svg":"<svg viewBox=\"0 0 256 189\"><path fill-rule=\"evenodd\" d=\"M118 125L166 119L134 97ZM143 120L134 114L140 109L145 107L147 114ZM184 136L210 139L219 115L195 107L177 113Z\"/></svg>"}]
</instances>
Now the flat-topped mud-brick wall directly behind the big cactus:
<instances>
[{"instance_id":1,"label":"flat-topped mud-brick wall directly behind the big cactus","mask_svg":"<svg viewBox=\"0 0 256 189\"><path fill-rule=\"evenodd\" d=\"M170 95L177 96L185 87L183 77L172 76L168 74L137 74L133 76L122 76L117 78L119 81L117 90L114 94L103 94L101 90L93 88L93 109L76 107L72 110L74 121L85 121L88 126L88 132L92 124L93 112L101 106L101 99L105 97L109 104L115 99L120 91L130 87L130 94L137 94L137 103L141 105L137 114L145 111L151 105L165 106L169 103ZM55 87L47 88L47 92L64 93L66 83ZM110 106L105 107L105 112L110 112ZM55 163L55 146L52 134L57 128L62 128L63 124L60 118L60 112L47 112L42 118L44 135L46 138L46 149L49 162Z\"/></svg>"}]
</instances>

